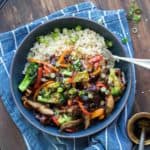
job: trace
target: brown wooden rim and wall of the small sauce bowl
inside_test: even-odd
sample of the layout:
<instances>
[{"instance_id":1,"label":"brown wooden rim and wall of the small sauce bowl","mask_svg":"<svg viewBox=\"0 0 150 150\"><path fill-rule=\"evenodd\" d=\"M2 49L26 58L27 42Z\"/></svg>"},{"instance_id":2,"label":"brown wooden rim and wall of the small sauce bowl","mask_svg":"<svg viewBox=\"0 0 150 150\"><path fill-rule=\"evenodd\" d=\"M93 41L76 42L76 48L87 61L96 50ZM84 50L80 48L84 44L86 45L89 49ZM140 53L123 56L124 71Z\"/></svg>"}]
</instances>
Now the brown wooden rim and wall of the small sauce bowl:
<instances>
[{"instance_id":1,"label":"brown wooden rim and wall of the small sauce bowl","mask_svg":"<svg viewBox=\"0 0 150 150\"><path fill-rule=\"evenodd\" d=\"M150 119L150 113L148 112L140 112L134 114L128 121L127 132L129 138L136 144L139 144L139 139L134 134L134 124L137 120L147 118ZM144 145L150 145L150 139L144 141Z\"/></svg>"}]
</instances>

